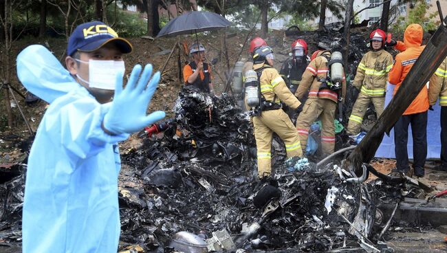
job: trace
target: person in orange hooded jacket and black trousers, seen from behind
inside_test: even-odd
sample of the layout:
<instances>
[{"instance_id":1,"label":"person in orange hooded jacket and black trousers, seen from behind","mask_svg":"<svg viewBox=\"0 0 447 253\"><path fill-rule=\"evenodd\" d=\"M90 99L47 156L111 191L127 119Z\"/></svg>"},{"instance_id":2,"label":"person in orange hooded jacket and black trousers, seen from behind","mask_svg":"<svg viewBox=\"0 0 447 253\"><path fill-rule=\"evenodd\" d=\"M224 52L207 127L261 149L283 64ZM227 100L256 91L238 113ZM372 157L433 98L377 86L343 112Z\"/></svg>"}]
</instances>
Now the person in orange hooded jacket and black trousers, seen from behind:
<instances>
[{"instance_id":1,"label":"person in orange hooded jacket and black trousers, seen from behind","mask_svg":"<svg viewBox=\"0 0 447 253\"><path fill-rule=\"evenodd\" d=\"M406 49L404 52L395 56L395 63L391 72L389 72L388 81L390 85L395 85L393 96L424 50L425 46L421 45L423 34L424 30L422 26L415 23L408 25L404 32ZM413 133L414 175L416 177L424 177L424 164L427 156L426 130L428 107L428 90L424 86L394 126L396 168L398 172L408 173L410 170L406 146L408 141L408 125L411 124L411 131Z\"/></svg>"}]
</instances>

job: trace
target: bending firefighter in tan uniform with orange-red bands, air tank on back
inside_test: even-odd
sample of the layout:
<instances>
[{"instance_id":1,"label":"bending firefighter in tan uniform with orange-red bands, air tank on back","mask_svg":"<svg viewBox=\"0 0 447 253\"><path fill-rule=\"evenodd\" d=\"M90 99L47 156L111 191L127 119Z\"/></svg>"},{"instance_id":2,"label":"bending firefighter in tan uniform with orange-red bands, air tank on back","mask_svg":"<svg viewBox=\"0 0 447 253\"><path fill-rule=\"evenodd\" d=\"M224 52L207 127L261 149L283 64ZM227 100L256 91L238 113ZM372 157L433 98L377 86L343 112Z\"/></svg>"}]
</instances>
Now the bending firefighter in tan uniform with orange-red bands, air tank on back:
<instances>
[{"instance_id":1,"label":"bending firefighter in tan uniform with orange-red bands, air tank on back","mask_svg":"<svg viewBox=\"0 0 447 253\"><path fill-rule=\"evenodd\" d=\"M337 102L343 102L346 94L346 80L343 78L339 91L330 89L327 83L329 67L327 63L331 57L328 50L312 54L311 62L307 65L300 86L296 90L298 99L303 98L307 91L307 98L303 111L296 120L296 129L300 135L301 148L306 151L307 137L310 125L320 117L322 123L321 146L323 155L334 153L335 148L335 111ZM339 98L339 96L341 96Z\"/></svg>"}]
</instances>

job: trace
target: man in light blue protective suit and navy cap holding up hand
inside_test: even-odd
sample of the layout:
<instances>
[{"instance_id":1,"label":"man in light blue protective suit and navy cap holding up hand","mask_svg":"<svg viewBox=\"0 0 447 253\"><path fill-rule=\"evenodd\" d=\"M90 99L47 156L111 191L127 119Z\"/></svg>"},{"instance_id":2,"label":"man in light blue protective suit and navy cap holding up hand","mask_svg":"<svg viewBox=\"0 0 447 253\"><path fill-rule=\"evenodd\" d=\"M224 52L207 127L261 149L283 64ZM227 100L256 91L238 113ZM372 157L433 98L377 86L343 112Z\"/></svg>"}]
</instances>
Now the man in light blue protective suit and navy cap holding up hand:
<instances>
[{"instance_id":1,"label":"man in light blue protective suit and navy cap holding up hand","mask_svg":"<svg viewBox=\"0 0 447 253\"><path fill-rule=\"evenodd\" d=\"M28 159L23 252L118 251L117 143L164 118L146 115L160 80L151 65L133 67L122 87L122 55L131 50L94 21L69 37L67 69L39 45L17 57L23 85L50 102Z\"/></svg>"}]
</instances>

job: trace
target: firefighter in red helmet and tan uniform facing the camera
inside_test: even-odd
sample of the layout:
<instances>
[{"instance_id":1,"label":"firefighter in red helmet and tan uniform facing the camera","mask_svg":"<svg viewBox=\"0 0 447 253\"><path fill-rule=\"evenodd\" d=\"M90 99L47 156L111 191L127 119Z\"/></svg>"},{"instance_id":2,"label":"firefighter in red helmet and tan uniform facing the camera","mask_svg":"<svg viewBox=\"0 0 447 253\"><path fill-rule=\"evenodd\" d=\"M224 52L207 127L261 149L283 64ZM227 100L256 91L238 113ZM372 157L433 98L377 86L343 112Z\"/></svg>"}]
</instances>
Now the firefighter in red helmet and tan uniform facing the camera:
<instances>
[{"instance_id":1,"label":"firefighter in red helmet and tan uniform facing the camera","mask_svg":"<svg viewBox=\"0 0 447 253\"><path fill-rule=\"evenodd\" d=\"M364 113L367 112L371 102L374 104L377 118L384 110L386 80L393 67L393 56L384 50L385 38L385 32L380 29L371 32L369 35L371 51L364 54L357 67L356 78L352 85L359 89L360 93L349 117L347 127L349 135L360 132Z\"/></svg>"}]
</instances>

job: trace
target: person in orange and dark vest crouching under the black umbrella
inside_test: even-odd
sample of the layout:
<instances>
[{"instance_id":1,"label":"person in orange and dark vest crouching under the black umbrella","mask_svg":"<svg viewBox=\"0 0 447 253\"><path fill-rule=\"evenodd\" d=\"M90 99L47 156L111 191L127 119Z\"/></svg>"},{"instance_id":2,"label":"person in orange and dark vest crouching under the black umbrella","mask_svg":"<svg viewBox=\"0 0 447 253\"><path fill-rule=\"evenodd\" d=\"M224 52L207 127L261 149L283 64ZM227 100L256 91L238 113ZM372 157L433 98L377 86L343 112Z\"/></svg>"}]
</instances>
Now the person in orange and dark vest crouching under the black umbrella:
<instances>
[{"instance_id":1,"label":"person in orange and dark vest crouching under the black umbrella","mask_svg":"<svg viewBox=\"0 0 447 253\"><path fill-rule=\"evenodd\" d=\"M205 58L205 47L199 43L194 43L189 48L189 53L193 56L193 61L183 68L185 85L192 85L200 91L214 94L212 86L211 67Z\"/></svg>"}]
</instances>

